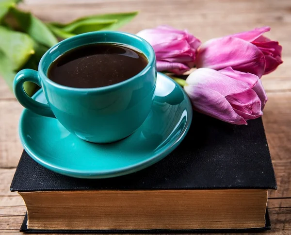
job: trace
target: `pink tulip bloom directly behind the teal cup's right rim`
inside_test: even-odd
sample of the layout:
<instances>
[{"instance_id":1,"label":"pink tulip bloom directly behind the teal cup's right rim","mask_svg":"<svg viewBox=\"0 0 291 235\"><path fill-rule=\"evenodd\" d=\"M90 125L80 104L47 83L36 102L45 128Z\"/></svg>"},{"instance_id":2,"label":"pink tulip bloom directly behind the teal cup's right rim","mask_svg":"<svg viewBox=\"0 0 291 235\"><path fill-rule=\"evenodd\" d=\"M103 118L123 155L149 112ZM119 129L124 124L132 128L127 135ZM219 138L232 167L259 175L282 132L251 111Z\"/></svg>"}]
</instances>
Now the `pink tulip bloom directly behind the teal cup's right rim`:
<instances>
[{"instance_id":1,"label":"pink tulip bloom directly behind the teal cup's right rim","mask_svg":"<svg viewBox=\"0 0 291 235\"><path fill-rule=\"evenodd\" d=\"M137 35L146 39L154 48L158 71L182 74L194 66L195 51L201 42L186 30L159 26L142 30Z\"/></svg>"}]
</instances>

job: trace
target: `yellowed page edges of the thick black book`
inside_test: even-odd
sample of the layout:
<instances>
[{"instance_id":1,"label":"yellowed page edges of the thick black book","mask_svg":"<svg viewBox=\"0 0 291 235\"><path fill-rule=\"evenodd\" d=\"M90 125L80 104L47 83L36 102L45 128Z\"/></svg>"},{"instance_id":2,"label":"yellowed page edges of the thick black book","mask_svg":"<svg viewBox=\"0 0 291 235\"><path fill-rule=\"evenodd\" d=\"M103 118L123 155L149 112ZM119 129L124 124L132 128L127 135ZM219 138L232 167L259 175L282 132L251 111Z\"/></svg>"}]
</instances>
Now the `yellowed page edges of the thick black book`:
<instances>
[{"instance_id":1,"label":"yellowed page edges of the thick black book","mask_svg":"<svg viewBox=\"0 0 291 235\"><path fill-rule=\"evenodd\" d=\"M29 229L148 230L265 227L267 190L19 192Z\"/></svg>"}]
</instances>

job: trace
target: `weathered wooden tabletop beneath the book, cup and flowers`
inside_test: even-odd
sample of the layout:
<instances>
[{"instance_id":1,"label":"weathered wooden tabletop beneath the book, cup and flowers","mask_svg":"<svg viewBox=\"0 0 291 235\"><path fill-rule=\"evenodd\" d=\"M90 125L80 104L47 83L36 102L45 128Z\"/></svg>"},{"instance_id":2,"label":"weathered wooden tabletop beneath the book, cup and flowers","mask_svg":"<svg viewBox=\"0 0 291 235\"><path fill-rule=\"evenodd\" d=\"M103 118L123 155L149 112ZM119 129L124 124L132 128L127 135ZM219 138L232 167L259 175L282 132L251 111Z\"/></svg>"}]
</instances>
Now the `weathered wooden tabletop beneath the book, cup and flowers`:
<instances>
[{"instance_id":1,"label":"weathered wooden tabletop beneath the book, cup and flowers","mask_svg":"<svg viewBox=\"0 0 291 235\"><path fill-rule=\"evenodd\" d=\"M269 193L272 230L291 234L291 1L290 0L25 0L21 7L47 21L67 22L85 15L140 10L121 30L130 33L169 24L187 28L206 41L212 37L269 25L267 36L283 46L284 63L262 78L269 101L263 121L270 146L278 190ZM22 111L0 80L0 233L19 233L26 208L9 186L22 147L18 118Z\"/></svg>"}]
</instances>

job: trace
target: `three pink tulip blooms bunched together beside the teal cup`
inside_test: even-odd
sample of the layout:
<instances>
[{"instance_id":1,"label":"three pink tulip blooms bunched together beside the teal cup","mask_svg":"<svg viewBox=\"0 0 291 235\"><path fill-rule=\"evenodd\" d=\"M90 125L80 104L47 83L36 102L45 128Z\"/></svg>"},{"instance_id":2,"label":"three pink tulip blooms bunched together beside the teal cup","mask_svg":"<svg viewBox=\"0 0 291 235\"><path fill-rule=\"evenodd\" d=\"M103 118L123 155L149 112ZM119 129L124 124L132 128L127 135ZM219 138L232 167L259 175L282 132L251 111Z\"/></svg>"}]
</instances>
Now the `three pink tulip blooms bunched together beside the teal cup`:
<instances>
[{"instance_id":1,"label":"three pink tulip blooms bunched together beside the teal cup","mask_svg":"<svg viewBox=\"0 0 291 235\"><path fill-rule=\"evenodd\" d=\"M137 35L154 48L158 71L177 75L196 69L186 80L175 78L194 110L232 124L262 116L268 100L260 78L283 63L282 47L263 36L270 27L211 39L203 44L186 30L169 26Z\"/></svg>"}]
</instances>

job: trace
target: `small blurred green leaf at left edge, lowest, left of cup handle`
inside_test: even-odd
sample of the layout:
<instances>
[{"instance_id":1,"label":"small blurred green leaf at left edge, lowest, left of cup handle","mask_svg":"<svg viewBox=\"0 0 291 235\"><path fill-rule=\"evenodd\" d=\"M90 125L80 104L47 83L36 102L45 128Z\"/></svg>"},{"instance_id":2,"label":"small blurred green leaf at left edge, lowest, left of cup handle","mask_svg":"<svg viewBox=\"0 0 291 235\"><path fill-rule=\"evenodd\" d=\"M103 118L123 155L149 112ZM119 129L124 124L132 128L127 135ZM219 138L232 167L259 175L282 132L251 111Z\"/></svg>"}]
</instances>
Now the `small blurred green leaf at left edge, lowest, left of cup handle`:
<instances>
[{"instance_id":1,"label":"small blurred green leaf at left edge, lowest, left of cup handle","mask_svg":"<svg viewBox=\"0 0 291 235\"><path fill-rule=\"evenodd\" d=\"M11 90L15 75L16 72L13 69L11 61L4 52L0 51L0 76L5 80Z\"/></svg>"}]
</instances>

